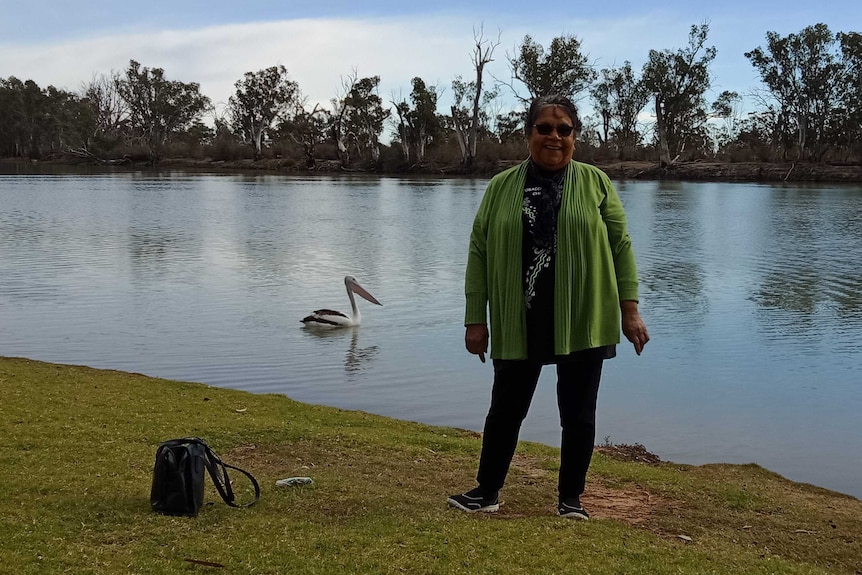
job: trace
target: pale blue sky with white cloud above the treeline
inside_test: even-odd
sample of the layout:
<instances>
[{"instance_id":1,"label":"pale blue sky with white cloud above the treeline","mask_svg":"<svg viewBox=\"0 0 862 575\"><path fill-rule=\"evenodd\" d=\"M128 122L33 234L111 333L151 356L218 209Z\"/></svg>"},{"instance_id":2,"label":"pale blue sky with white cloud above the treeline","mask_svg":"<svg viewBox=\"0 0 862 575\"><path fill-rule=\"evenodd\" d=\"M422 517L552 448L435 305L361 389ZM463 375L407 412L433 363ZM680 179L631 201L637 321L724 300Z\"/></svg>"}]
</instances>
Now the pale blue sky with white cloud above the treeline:
<instances>
[{"instance_id":1,"label":"pale blue sky with white cloud above the treeline","mask_svg":"<svg viewBox=\"0 0 862 575\"><path fill-rule=\"evenodd\" d=\"M486 68L485 80L493 82L510 80L506 56L526 34L545 47L574 35L597 70L627 60L640 70L651 49L684 47L691 26L703 22L710 27L707 45L717 49L712 101L723 90L745 96L760 87L743 54L765 46L767 31L787 35L822 22L833 33L862 32L862 2L0 0L0 78L78 92L136 60L162 68L169 80L197 82L223 110L243 74L283 65L310 105L328 107L353 73L380 76L386 102L406 99L419 76L444 89L445 104L456 75L475 77L477 30L499 40ZM501 94L503 106L514 105L508 88Z\"/></svg>"}]
</instances>

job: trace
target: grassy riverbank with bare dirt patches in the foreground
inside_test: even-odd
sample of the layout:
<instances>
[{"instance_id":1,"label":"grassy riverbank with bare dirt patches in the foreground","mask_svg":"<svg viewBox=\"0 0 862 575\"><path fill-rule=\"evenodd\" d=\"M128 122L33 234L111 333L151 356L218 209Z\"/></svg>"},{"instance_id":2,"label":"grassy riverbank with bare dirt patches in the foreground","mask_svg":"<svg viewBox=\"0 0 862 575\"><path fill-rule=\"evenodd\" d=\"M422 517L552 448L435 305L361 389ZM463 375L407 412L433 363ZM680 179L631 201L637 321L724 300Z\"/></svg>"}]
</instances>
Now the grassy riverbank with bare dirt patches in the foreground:
<instances>
[{"instance_id":1,"label":"grassy riverbank with bare dirt patches in the foreground","mask_svg":"<svg viewBox=\"0 0 862 575\"><path fill-rule=\"evenodd\" d=\"M559 450L522 443L496 515L447 509L476 433L139 374L0 358L0 573L862 573L862 502L757 465L596 453L589 522L553 514ZM230 508L149 509L157 445L254 474ZM314 484L276 487L310 476ZM250 491L239 474L240 500Z\"/></svg>"}]
</instances>

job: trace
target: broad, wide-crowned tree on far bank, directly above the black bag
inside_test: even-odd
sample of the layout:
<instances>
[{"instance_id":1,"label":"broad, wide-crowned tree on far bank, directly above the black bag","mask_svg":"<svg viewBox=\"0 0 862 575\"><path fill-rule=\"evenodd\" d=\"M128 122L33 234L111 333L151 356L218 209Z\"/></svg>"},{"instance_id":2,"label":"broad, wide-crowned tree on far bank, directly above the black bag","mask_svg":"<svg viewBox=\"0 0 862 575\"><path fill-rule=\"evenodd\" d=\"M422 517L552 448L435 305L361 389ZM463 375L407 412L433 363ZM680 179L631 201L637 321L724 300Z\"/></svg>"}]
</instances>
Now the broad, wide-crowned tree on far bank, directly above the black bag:
<instances>
[{"instance_id":1,"label":"broad, wide-crowned tree on far bank, directly above the black bag","mask_svg":"<svg viewBox=\"0 0 862 575\"><path fill-rule=\"evenodd\" d=\"M210 108L209 98L196 82L167 80L162 68L142 68L134 60L129 61L117 89L129 107L130 127L149 147L153 162L159 160L172 134L186 130Z\"/></svg>"}]
</instances>

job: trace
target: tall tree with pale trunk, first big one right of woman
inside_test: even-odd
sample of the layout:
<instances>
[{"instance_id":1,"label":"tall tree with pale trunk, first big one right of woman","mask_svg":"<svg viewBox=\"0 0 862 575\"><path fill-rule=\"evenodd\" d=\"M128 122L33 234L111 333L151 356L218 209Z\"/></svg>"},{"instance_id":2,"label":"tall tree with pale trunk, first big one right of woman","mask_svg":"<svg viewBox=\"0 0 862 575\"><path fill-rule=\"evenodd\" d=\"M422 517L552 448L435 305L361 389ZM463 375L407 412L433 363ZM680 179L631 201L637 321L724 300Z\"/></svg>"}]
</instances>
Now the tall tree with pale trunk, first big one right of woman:
<instances>
[{"instance_id":1,"label":"tall tree with pale trunk, first big one right of woman","mask_svg":"<svg viewBox=\"0 0 862 575\"><path fill-rule=\"evenodd\" d=\"M693 25L688 45L676 51L650 50L643 82L655 99L659 159L669 165L686 146L702 146L706 136L709 65L715 46L706 46L709 25ZM673 154L673 159L671 157Z\"/></svg>"}]
</instances>

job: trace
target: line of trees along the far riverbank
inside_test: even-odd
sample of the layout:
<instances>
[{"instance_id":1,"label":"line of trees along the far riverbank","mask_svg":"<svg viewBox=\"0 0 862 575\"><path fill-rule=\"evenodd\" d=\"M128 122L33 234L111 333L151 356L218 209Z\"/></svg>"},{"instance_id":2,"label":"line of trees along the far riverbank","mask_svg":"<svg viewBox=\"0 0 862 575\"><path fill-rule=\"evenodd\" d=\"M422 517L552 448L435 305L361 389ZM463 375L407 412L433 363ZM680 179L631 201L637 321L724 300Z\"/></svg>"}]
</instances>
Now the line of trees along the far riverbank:
<instances>
[{"instance_id":1,"label":"line of trees along the far riverbank","mask_svg":"<svg viewBox=\"0 0 862 575\"><path fill-rule=\"evenodd\" d=\"M452 104L442 111L439 86L416 77L408 97L384 101L380 77L355 71L326 105L310 104L284 66L247 72L219 112L199 84L168 80L163 69L134 60L77 93L0 78L0 157L279 159L297 169L470 172L522 159L526 104L563 94L589 98L595 111L578 143L586 161L862 162L862 34L833 34L825 24L767 32L765 46L745 52L762 87L746 95L755 111L743 114L736 92L705 98L717 55L708 33L707 24L692 26L685 47L650 50L639 72L630 62L595 69L575 36L548 47L526 36L506 56L505 82L487 78L500 41L479 30L475 75L452 80ZM523 107L503 112L503 90ZM208 114L213 120L204 123ZM391 144L380 142L384 131Z\"/></svg>"}]
</instances>

